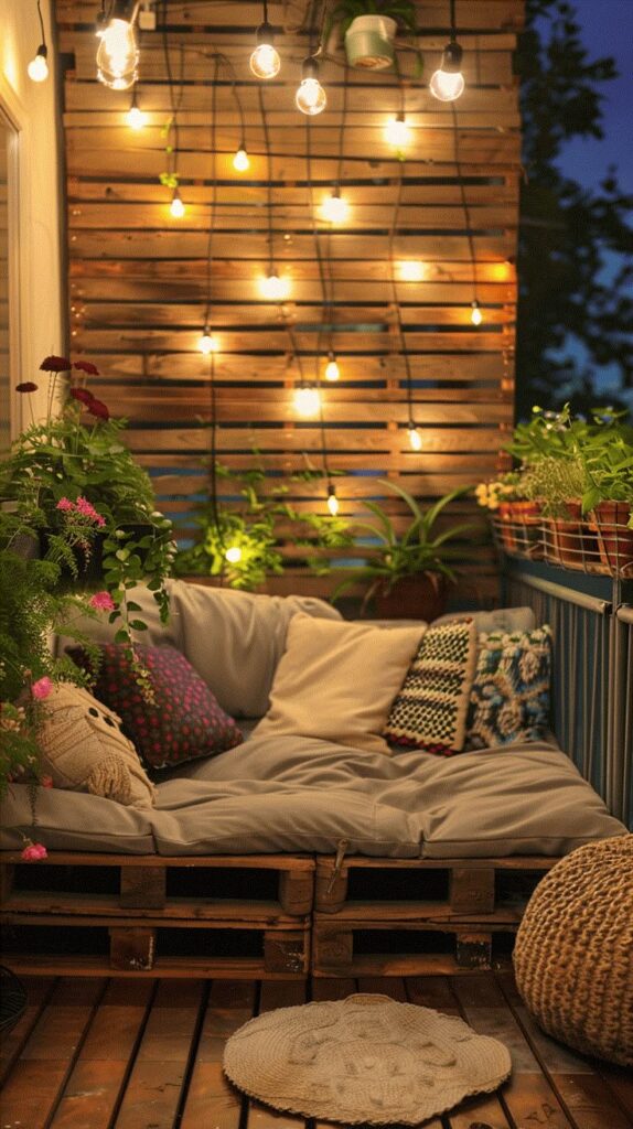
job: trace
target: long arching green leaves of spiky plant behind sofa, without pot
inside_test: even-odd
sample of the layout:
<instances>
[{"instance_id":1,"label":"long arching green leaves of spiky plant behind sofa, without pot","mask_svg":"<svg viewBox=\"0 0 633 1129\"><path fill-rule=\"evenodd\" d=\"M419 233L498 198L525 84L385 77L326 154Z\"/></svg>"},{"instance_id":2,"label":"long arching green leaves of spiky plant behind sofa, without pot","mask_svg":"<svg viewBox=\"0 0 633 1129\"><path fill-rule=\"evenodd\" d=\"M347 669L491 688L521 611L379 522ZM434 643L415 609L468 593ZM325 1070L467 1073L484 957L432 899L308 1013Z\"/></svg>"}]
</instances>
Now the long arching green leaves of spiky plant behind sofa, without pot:
<instances>
[{"instance_id":1,"label":"long arching green leaves of spiky plant behind sofa, without pot","mask_svg":"<svg viewBox=\"0 0 633 1129\"><path fill-rule=\"evenodd\" d=\"M472 522L461 522L434 533L436 523L450 502L463 497L469 488L451 490L436 502L422 509L415 498L403 487L387 479L377 479L379 485L386 487L406 504L411 520L404 533L398 533L395 522L386 509L376 501L366 499L363 506L376 518L376 525L354 523L357 528L364 528L380 542L376 558L359 569L354 569L335 589L333 599L355 584L368 585L364 603L375 592L389 592L404 577L429 574L432 577L445 577L455 581L456 574L450 561L458 553L454 542L471 533L476 526Z\"/></svg>"}]
</instances>

